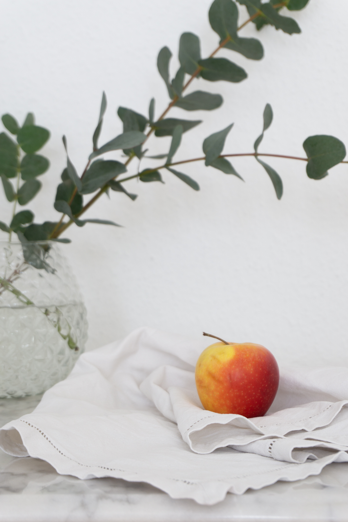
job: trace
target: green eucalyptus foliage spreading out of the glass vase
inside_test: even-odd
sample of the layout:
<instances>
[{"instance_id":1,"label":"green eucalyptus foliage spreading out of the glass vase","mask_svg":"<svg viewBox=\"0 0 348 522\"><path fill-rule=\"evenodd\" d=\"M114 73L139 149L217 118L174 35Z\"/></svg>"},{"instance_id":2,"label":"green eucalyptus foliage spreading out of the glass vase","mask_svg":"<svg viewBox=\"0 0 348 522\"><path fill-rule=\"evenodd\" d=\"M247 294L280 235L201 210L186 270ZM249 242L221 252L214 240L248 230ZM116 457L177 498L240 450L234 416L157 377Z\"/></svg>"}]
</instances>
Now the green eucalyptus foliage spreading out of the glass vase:
<instances>
[{"instance_id":1,"label":"green eucalyptus foliage spreading out of the glass vase","mask_svg":"<svg viewBox=\"0 0 348 522\"><path fill-rule=\"evenodd\" d=\"M280 10L287 7L290 11L301 10L308 0L285 0L285 5L279 5L279 0L270 0L262 3L261 0L237 0L239 4L246 7L249 16L253 17L257 29L265 25L272 25L275 29L281 29L288 34L299 33L295 20L282 16ZM32 113L28 113L22 127L10 114L2 116L2 122L7 131L17 136L18 145L6 133L0 133L0 175L8 201L14 201L13 219L8 226L0 222L0 229L9 233L16 232L22 242L23 252L27 263L37 268L52 272L52 268L46 262L46 252L49 250L49 243L45 246L35 245L32 241L47 242L52 239L55 241L69 242L68 239L60 239L60 235L71 222L83 227L86 223L112 224L119 226L113 221L100 219L80 219L80 215L89 208L101 194L106 193L110 197L110 189L115 192L126 194L130 199L135 200L136 194L126 191L123 186L125 181L138 179L143 183L161 182L161 169L166 169L186 183L194 190L199 190L198 183L190 176L171 168L173 157L181 145L183 133L196 127L201 120L182 120L179 118L165 118L167 112L175 106L186 111L205 110L211 111L218 109L223 99L220 94L212 94L202 90L185 93L186 87L191 84L193 77L202 78L207 81L228 81L238 83L247 78L245 70L226 58L215 57L220 48L235 51L251 60L260 60L263 56L263 48L259 40L255 38L239 37L238 31L239 12L237 4L233 0L214 0L209 9L209 21L212 29L219 35L220 46L210 57L202 58L200 50L200 40L197 35L191 32L184 32L179 40L178 59L180 67L175 77L171 80L170 61L172 53L167 47L163 47L158 55L158 70L163 78L171 100L167 109L154 121L154 98L149 104L149 117L146 117L132 109L120 106L117 114L123 123L123 133L116 136L104 145L99 147L98 141L103 125L103 118L106 111L107 101L105 92L102 94L101 106L97 127L94 129L92 142L93 151L89 156L89 161L83 173L78 174L73 163L70 161L67 152L66 137L63 136L63 144L67 153L67 167L62 173L62 182L58 184L54 208L63 214L61 220L57 222L45 221L44 223L33 223L33 213L30 210L22 210L15 213L17 203L26 205L39 192L41 183L36 179L49 168L49 161L36 154L43 147L50 133L43 127L35 125L35 118ZM249 20L250 21L250 20ZM245 24L242 24L244 27ZM185 75L191 78L185 84ZM272 123L272 109L266 105L263 112L263 128L261 135L254 144L255 153L247 154L255 156L255 159L262 165L269 175L278 199L281 198L283 185L280 176L267 163L261 161L258 152L259 145L263 139L265 131ZM149 131L146 131L147 127ZM203 141L203 152L205 153L205 164L220 170L225 174L242 177L235 171L233 165L221 153L225 144L227 134L230 132L232 124L208 136ZM148 132L146 135L145 133ZM164 164L156 169L146 168L139 172L140 160L146 155L147 150L142 151L142 144L148 137L154 134L155 137L172 136L168 153L155 156L146 156L147 159L164 160ZM311 136L303 144L307 154L307 174L313 179L321 179L327 175L327 170L339 163L345 157L345 147L343 143L332 136ZM127 156L125 162L105 160L101 158L105 153L112 151L123 151ZM24 154L23 154L24 153ZM225 155L231 156L231 155ZM241 155L241 156L244 156ZM134 158L139 159L138 172L128 175L123 180L116 181L115 178L127 172L127 166ZM94 158L98 158L91 163ZM199 161L196 158L186 161ZM184 161L183 161L184 162ZM176 164L181 162L176 161ZM17 176L17 194L13 184L8 180ZM21 180L24 183L21 184ZM89 203L83 207L82 195L95 194ZM67 216L69 221L66 222ZM78 217L77 217L78 216ZM45 250L46 248L46 250Z\"/></svg>"}]
</instances>

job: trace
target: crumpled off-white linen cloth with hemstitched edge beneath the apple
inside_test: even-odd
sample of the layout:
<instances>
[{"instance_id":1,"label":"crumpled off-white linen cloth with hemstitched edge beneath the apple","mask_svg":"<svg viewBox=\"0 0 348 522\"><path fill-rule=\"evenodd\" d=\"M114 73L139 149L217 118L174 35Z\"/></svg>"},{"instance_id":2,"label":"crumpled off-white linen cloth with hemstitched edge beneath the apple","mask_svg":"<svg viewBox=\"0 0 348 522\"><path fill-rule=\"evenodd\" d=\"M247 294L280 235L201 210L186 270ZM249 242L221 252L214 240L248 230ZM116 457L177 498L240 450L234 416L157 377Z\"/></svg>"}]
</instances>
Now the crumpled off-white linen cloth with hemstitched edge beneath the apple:
<instances>
[{"instance_id":1,"label":"crumpled off-white linen cloth with hemstitched edge beneath the apple","mask_svg":"<svg viewBox=\"0 0 348 522\"><path fill-rule=\"evenodd\" d=\"M175 499L222 501L348 461L348 369L285 369L265 417L203 409L195 364L209 344L150 328L81 355L0 447L80 479L148 482Z\"/></svg>"}]
</instances>

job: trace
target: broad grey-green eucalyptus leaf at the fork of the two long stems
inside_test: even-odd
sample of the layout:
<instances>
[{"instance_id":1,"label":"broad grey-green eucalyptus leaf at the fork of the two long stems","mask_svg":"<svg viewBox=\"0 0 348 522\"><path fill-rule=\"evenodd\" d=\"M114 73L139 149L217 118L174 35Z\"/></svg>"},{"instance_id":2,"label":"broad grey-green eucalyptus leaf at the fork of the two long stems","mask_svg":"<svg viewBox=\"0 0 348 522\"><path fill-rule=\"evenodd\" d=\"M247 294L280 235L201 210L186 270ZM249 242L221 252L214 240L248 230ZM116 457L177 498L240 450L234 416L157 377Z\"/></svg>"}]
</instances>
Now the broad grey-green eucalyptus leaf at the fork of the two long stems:
<instances>
[{"instance_id":1,"label":"broad grey-green eucalyptus leaf at the fork of the two long stems","mask_svg":"<svg viewBox=\"0 0 348 522\"><path fill-rule=\"evenodd\" d=\"M82 179L81 194L91 194L119 174L127 172L123 163L114 160L94 161Z\"/></svg>"}]
</instances>

